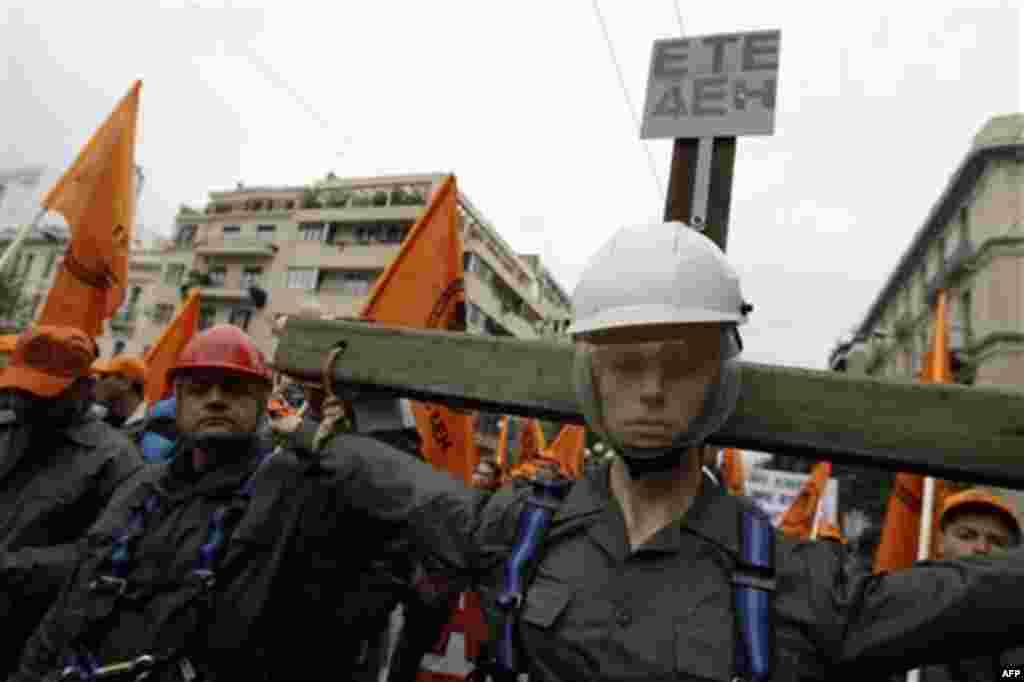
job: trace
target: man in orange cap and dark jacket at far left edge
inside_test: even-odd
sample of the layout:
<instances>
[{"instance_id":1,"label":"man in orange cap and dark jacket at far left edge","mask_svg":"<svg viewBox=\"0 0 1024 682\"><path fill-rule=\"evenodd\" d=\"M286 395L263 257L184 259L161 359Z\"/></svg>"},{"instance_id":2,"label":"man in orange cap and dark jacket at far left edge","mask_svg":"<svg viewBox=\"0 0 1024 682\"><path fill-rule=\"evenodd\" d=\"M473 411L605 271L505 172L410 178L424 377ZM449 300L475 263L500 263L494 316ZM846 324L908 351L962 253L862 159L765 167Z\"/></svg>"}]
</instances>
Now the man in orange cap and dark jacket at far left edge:
<instances>
[{"instance_id":1,"label":"man in orange cap and dark jacket at far left edge","mask_svg":"<svg viewBox=\"0 0 1024 682\"><path fill-rule=\"evenodd\" d=\"M0 671L16 667L77 558L76 541L141 467L113 427L85 418L91 340L70 328L24 333L0 373Z\"/></svg>"}]
</instances>

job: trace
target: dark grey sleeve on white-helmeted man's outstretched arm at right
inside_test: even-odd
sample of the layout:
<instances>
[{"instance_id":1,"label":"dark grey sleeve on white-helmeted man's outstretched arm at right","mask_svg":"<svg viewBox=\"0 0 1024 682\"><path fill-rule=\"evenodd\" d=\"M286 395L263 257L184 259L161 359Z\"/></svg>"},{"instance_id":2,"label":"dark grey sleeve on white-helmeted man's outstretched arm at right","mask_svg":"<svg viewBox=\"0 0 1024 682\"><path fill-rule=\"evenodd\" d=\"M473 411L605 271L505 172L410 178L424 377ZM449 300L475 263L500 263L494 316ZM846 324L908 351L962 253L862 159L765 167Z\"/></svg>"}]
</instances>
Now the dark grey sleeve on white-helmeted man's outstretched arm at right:
<instances>
[{"instance_id":1,"label":"dark grey sleeve on white-helmeted man's outstretched arm at right","mask_svg":"<svg viewBox=\"0 0 1024 682\"><path fill-rule=\"evenodd\" d=\"M780 577L780 611L806 619L831 660L895 672L1024 644L1024 549L881 574L851 573L843 551L800 545Z\"/></svg>"}]
</instances>

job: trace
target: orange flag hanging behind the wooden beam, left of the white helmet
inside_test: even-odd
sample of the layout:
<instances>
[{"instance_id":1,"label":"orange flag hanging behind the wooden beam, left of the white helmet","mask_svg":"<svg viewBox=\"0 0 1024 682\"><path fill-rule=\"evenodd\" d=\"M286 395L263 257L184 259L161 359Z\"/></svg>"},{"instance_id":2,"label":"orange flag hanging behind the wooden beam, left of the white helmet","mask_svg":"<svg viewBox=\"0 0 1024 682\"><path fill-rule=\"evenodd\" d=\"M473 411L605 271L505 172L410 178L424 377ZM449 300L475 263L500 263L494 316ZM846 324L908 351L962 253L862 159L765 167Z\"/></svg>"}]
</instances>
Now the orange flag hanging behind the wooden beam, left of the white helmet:
<instances>
[{"instance_id":1,"label":"orange flag hanging behind the wooden beam, left of the white helmet","mask_svg":"<svg viewBox=\"0 0 1024 682\"><path fill-rule=\"evenodd\" d=\"M458 198L455 176L450 175L374 285L362 307L364 318L417 329L465 331ZM479 461L474 418L421 402L413 403L413 413L427 461L470 482Z\"/></svg>"}]
</instances>

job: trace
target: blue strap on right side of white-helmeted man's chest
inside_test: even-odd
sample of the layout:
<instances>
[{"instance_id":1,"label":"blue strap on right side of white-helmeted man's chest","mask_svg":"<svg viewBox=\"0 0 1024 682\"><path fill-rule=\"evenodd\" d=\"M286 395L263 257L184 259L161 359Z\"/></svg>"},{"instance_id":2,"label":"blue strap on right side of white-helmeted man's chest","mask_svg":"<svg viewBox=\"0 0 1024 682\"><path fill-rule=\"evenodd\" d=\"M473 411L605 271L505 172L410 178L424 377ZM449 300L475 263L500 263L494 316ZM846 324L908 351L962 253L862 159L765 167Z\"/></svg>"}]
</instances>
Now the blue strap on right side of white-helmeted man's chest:
<instances>
[{"instance_id":1,"label":"blue strap on right side of white-helmeted man's chest","mask_svg":"<svg viewBox=\"0 0 1024 682\"><path fill-rule=\"evenodd\" d=\"M741 680L763 682L772 674L775 529L767 517L743 510L740 539L740 564L732 578L737 624L735 673Z\"/></svg>"}]
</instances>

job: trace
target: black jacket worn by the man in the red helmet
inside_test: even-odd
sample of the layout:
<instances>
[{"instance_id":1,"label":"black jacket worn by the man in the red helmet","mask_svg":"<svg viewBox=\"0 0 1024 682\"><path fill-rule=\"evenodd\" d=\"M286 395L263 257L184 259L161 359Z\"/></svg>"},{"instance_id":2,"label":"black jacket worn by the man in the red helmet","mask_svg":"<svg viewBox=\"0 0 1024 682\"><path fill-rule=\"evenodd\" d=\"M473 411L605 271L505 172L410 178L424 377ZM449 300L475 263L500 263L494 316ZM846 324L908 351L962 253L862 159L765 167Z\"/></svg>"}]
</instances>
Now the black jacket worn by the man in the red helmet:
<instances>
[{"instance_id":1,"label":"black jacket worn by the man in the red helmet","mask_svg":"<svg viewBox=\"0 0 1024 682\"><path fill-rule=\"evenodd\" d=\"M259 459L254 452L197 475L190 452L181 450L122 486L11 679L52 674L89 638L85 648L100 665L185 643L189 659L215 679L347 679L358 669L364 641L393 608L393 586L374 580L374 562L398 526L348 506L331 458L298 457L293 449L265 462L245 505L238 492ZM114 538L151 497L160 504L134 547L128 596L112 600L90 591L110 572ZM210 519L232 500L244 517L226 545L213 599L189 601L187 576ZM162 677L172 672L153 679L173 679Z\"/></svg>"}]
</instances>

